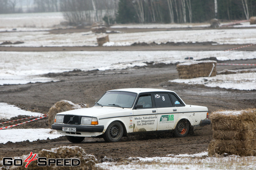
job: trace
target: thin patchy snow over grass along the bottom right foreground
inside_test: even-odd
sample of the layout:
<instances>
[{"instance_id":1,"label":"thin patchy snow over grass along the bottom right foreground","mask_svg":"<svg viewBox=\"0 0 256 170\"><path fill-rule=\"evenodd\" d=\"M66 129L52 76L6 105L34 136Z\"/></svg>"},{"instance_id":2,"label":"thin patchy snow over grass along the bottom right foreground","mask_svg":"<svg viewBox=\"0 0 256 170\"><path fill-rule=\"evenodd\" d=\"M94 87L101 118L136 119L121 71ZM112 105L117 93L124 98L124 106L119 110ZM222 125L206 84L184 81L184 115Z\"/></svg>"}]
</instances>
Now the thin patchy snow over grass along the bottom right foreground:
<instances>
[{"instance_id":1,"label":"thin patchy snow over grass along the bottom right foreground","mask_svg":"<svg viewBox=\"0 0 256 170\"><path fill-rule=\"evenodd\" d=\"M214 170L214 169L253 169L256 165L255 156L240 157L230 155L227 157L207 157L208 152L197 154L170 155L168 157L130 157L129 164L103 162L97 164L103 169L190 169L190 170ZM205 157L205 158L203 158Z\"/></svg>"}]
</instances>

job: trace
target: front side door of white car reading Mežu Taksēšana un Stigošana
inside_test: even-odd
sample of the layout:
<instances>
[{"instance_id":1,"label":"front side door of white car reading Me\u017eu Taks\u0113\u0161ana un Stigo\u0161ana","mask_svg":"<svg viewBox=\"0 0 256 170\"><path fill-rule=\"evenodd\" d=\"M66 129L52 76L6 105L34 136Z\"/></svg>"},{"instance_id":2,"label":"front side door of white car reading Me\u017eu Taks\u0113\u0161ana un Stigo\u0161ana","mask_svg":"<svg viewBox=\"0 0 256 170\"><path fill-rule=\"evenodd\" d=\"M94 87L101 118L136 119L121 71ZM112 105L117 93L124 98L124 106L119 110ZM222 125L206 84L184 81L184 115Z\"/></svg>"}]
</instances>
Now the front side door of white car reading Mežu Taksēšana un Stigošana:
<instances>
[{"instance_id":1,"label":"front side door of white car reading Me\u017eu Taks\u0113\u0161ana un Stigo\u0161ana","mask_svg":"<svg viewBox=\"0 0 256 170\"><path fill-rule=\"evenodd\" d=\"M133 110L133 132L155 131L157 113L152 101L152 94L140 94Z\"/></svg>"}]
</instances>

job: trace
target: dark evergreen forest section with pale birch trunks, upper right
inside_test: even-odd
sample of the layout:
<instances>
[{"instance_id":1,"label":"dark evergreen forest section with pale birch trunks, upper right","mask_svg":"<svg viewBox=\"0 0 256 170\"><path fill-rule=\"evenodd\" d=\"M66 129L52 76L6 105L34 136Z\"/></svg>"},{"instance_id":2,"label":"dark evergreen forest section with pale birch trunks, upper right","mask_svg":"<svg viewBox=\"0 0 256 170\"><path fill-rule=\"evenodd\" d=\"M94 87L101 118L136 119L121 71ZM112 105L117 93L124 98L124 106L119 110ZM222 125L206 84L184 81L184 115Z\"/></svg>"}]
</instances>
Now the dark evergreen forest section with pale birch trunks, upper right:
<instances>
[{"instance_id":1,"label":"dark evergreen forest section with pale birch trunks, upper right","mask_svg":"<svg viewBox=\"0 0 256 170\"><path fill-rule=\"evenodd\" d=\"M119 0L117 22L185 23L241 20L253 15L256 0Z\"/></svg>"}]
</instances>

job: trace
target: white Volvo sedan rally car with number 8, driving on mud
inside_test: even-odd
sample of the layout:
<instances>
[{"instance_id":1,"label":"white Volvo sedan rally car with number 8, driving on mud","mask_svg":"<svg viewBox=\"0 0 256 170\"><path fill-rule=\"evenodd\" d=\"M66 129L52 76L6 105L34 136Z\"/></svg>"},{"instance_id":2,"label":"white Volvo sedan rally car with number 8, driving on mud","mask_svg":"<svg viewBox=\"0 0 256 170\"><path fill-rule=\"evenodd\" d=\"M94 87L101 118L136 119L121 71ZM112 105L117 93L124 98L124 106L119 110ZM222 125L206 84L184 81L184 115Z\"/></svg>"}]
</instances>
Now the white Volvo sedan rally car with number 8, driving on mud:
<instances>
[{"instance_id":1,"label":"white Volvo sedan rally car with number 8, driving on mud","mask_svg":"<svg viewBox=\"0 0 256 170\"><path fill-rule=\"evenodd\" d=\"M106 91L93 107L58 113L52 129L70 142L103 137L117 142L135 132L169 131L184 137L190 130L210 124L208 108L187 105L174 92L163 89L127 88Z\"/></svg>"}]
</instances>

